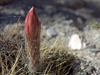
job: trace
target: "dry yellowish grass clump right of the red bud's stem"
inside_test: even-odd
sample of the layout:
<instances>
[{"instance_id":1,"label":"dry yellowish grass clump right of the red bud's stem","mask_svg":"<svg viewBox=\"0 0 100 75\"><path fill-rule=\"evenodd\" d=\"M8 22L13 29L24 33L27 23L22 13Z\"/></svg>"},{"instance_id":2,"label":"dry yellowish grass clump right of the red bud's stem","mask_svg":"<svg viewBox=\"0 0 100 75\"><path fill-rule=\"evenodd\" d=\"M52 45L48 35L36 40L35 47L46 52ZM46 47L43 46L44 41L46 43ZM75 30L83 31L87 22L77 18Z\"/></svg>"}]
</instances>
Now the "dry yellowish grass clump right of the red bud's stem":
<instances>
[{"instance_id":1,"label":"dry yellowish grass clump right of the red bud's stem","mask_svg":"<svg viewBox=\"0 0 100 75\"><path fill-rule=\"evenodd\" d=\"M41 47L41 59L44 75L67 75L70 73L75 58L67 53L67 46L59 38L49 41Z\"/></svg>"}]
</instances>

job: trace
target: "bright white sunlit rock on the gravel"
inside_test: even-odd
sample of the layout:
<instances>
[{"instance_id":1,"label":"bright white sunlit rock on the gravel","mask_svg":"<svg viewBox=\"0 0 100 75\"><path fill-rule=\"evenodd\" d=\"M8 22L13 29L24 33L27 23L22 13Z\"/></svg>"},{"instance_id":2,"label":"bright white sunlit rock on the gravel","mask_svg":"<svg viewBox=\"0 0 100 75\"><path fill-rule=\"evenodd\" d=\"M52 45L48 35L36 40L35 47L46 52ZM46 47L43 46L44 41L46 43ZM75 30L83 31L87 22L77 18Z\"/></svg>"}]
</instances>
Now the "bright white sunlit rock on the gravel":
<instances>
[{"instance_id":1,"label":"bright white sunlit rock on the gravel","mask_svg":"<svg viewBox=\"0 0 100 75\"><path fill-rule=\"evenodd\" d=\"M80 50L85 48L86 44L82 42L78 34L74 34L69 40L68 47L73 50Z\"/></svg>"}]
</instances>

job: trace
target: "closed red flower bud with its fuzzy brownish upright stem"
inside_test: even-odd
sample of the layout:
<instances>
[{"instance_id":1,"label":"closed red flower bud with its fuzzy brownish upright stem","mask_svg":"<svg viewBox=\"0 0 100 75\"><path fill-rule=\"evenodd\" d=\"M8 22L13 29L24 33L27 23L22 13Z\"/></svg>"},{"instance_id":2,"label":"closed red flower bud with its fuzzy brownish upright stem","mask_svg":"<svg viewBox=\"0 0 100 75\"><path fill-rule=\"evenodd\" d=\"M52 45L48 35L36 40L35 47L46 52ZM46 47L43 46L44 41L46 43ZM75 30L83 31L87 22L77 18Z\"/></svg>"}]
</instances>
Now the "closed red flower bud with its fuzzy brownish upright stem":
<instances>
[{"instance_id":1,"label":"closed red flower bud with its fuzzy brownish upright stem","mask_svg":"<svg viewBox=\"0 0 100 75\"><path fill-rule=\"evenodd\" d=\"M24 32L26 35L27 52L28 52L28 69L35 73L40 64L40 32L41 25L38 20L34 6L28 12L25 19Z\"/></svg>"}]
</instances>

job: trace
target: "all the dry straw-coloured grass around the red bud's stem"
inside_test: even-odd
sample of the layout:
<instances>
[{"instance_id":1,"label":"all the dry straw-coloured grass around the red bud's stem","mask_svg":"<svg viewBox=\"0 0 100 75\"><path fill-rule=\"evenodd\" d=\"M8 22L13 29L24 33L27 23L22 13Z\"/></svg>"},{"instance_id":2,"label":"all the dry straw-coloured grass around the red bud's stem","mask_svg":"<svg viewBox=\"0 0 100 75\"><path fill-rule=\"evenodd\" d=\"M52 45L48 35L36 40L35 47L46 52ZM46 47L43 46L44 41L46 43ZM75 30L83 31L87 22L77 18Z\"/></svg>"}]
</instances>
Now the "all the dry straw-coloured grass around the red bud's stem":
<instances>
[{"instance_id":1,"label":"all the dry straw-coloured grass around the red bud's stem","mask_svg":"<svg viewBox=\"0 0 100 75\"><path fill-rule=\"evenodd\" d=\"M19 34L20 30L22 29L16 26L7 33L0 29L0 75L69 74L75 59L67 53L67 46L59 38L41 40L41 68L36 74L30 74L25 66L27 49L25 39Z\"/></svg>"}]
</instances>

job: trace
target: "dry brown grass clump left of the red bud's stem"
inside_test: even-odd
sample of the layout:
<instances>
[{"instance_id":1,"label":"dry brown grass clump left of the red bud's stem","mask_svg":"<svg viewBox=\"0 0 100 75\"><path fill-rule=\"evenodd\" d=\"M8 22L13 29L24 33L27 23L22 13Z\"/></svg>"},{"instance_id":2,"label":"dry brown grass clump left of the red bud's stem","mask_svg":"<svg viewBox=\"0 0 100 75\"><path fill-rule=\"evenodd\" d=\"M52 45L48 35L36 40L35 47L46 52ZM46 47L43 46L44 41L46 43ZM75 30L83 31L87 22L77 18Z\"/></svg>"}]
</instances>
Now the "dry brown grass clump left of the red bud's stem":
<instances>
[{"instance_id":1,"label":"dry brown grass clump left of the red bud's stem","mask_svg":"<svg viewBox=\"0 0 100 75\"><path fill-rule=\"evenodd\" d=\"M19 61L22 59L21 55L24 53L22 50L24 50L25 45L21 40L22 37L19 34L20 28L17 27L17 24L7 33L3 32L2 28L0 31L0 59L2 59L0 61L0 72L2 75L5 75L12 73L13 70L11 69L14 67L16 59L18 59L17 64L19 64ZM17 70L18 68L15 67L15 69Z\"/></svg>"}]
</instances>

